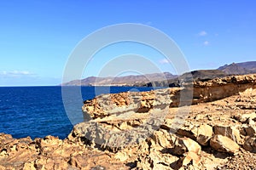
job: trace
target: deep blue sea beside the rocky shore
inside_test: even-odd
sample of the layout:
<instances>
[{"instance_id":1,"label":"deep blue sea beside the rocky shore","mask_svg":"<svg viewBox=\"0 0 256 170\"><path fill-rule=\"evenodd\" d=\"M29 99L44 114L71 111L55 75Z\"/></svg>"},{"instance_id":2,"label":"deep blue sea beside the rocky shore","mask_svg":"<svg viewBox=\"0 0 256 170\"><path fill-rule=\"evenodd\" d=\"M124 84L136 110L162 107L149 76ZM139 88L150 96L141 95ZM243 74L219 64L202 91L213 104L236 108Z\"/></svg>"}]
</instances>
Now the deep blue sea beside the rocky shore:
<instances>
[{"instance_id":1,"label":"deep blue sea beside the rocky shore","mask_svg":"<svg viewBox=\"0 0 256 170\"><path fill-rule=\"evenodd\" d=\"M70 87L72 89L72 87ZM96 89L96 90L95 90ZM69 107L76 123L83 122L81 106L85 99L98 94L126 91L148 91L152 88L132 87L82 87L82 99L70 99ZM72 90L70 90L72 92ZM12 134L14 138L30 136L32 139L46 135L67 138L73 129L64 107L61 87L1 87L0 133Z\"/></svg>"}]
</instances>

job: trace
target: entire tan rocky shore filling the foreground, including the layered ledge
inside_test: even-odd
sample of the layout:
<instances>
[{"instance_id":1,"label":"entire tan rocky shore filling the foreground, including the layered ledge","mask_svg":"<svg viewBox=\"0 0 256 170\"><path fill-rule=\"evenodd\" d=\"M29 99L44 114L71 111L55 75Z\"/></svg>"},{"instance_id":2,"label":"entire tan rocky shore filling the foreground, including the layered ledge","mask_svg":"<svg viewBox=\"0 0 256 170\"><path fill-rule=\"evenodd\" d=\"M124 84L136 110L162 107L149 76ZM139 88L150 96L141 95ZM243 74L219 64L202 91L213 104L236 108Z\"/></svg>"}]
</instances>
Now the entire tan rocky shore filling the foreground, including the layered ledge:
<instances>
[{"instance_id":1,"label":"entire tan rocky shore filling the foreground, including the layered ledge","mask_svg":"<svg viewBox=\"0 0 256 170\"><path fill-rule=\"evenodd\" d=\"M256 168L256 75L103 94L82 110L67 139L1 133L0 169Z\"/></svg>"}]
</instances>

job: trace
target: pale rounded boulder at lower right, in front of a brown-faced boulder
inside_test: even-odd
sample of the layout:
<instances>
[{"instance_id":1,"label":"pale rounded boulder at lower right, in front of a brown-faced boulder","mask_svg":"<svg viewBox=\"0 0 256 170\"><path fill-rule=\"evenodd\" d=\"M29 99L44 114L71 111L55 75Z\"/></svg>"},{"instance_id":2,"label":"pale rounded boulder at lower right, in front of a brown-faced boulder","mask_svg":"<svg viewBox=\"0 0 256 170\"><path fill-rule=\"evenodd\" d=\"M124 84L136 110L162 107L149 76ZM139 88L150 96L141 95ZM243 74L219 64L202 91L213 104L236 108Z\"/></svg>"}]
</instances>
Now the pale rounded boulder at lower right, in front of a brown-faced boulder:
<instances>
[{"instance_id":1,"label":"pale rounded boulder at lower right, in front of a brown-faced boulder","mask_svg":"<svg viewBox=\"0 0 256 170\"><path fill-rule=\"evenodd\" d=\"M210 146L220 152L235 154L239 151L239 145L226 136L215 134L210 140Z\"/></svg>"}]
</instances>

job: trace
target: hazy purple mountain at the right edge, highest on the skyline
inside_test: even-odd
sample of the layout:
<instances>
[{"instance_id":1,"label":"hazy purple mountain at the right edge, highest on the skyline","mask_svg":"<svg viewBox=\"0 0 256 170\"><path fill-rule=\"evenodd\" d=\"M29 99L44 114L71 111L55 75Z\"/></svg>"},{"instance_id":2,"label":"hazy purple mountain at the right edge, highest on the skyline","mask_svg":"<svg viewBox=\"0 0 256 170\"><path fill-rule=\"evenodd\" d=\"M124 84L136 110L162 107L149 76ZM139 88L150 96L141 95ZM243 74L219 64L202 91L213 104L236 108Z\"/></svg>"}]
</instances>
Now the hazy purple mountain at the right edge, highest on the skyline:
<instances>
[{"instance_id":1,"label":"hazy purple mountain at the right edge, highest on the skyline","mask_svg":"<svg viewBox=\"0 0 256 170\"><path fill-rule=\"evenodd\" d=\"M230 75L245 75L256 73L256 61L248 61L243 63L232 63L218 68L219 71L224 71Z\"/></svg>"}]
</instances>

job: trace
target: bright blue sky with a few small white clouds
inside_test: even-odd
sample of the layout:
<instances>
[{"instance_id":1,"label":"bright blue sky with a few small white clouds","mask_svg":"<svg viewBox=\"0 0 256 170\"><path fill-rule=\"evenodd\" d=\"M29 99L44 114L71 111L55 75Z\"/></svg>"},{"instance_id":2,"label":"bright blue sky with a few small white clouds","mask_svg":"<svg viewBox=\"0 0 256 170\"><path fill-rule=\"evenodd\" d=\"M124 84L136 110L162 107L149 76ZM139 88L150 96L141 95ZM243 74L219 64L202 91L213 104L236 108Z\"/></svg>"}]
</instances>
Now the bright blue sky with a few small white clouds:
<instances>
[{"instance_id":1,"label":"bright blue sky with a few small white clouds","mask_svg":"<svg viewBox=\"0 0 256 170\"><path fill-rule=\"evenodd\" d=\"M256 59L255 7L254 0L2 0L0 86L60 84L68 59L84 37L123 23L164 32L182 51L191 71L252 61ZM101 75L109 61L125 54L143 56L160 71L177 73L172 61L154 48L119 42L92 56L81 77ZM133 73L141 72L105 76Z\"/></svg>"}]
</instances>

